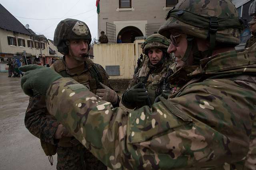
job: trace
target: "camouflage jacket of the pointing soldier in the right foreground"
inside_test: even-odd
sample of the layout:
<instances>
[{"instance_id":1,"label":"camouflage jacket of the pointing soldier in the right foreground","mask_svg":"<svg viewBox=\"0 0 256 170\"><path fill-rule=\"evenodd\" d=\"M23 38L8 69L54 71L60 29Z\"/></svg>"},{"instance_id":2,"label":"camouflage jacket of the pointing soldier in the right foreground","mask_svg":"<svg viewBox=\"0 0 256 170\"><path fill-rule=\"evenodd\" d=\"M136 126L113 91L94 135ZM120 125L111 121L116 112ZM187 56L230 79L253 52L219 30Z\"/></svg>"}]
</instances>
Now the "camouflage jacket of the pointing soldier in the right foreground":
<instances>
[{"instance_id":1,"label":"camouflage jacket of the pointing soldier in the right foreground","mask_svg":"<svg viewBox=\"0 0 256 170\"><path fill-rule=\"evenodd\" d=\"M253 45L203 59L152 108L113 109L70 78L52 83L47 108L113 169L255 170L255 53Z\"/></svg>"}]
</instances>

